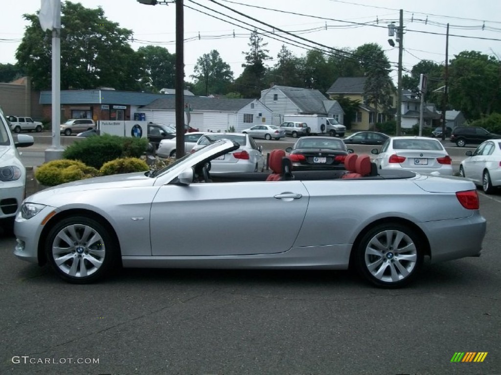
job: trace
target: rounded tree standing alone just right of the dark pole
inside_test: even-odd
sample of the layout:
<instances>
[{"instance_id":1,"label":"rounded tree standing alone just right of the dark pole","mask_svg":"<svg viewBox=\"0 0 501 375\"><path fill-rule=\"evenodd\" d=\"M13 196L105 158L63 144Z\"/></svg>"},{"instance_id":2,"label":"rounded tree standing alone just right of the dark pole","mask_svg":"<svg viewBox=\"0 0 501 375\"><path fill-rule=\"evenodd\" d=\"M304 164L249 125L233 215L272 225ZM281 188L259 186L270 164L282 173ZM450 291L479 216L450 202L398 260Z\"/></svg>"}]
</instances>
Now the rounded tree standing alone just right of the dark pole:
<instances>
[{"instance_id":1,"label":"rounded tree standing alone just right of the dark pole","mask_svg":"<svg viewBox=\"0 0 501 375\"><path fill-rule=\"evenodd\" d=\"M225 94L233 81L230 66L222 60L215 49L198 57L193 71L191 77L195 79L193 86L195 95Z\"/></svg>"}]
</instances>

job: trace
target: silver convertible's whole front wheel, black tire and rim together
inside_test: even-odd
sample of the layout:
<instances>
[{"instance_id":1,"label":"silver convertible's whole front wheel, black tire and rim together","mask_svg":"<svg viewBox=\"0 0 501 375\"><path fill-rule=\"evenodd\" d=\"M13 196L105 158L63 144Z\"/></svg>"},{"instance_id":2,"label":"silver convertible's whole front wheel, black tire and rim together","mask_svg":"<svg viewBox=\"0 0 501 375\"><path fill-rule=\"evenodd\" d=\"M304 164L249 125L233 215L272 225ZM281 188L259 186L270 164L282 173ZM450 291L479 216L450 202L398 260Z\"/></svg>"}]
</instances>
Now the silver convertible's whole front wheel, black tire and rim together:
<instances>
[{"instance_id":1,"label":"silver convertible's whole front wheel, black tire and rim together","mask_svg":"<svg viewBox=\"0 0 501 375\"><path fill-rule=\"evenodd\" d=\"M94 241L88 243L91 238ZM68 239L74 242L68 243ZM87 216L73 216L62 219L52 227L47 236L45 251L59 277L71 283L87 284L106 276L117 263L117 246L109 229L99 221ZM53 247L58 248L56 254ZM59 265L55 258L59 259ZM64 258L66 259L62 261ZM88 272L90 274L82 275Z\"/></svg>"}]
</instances>

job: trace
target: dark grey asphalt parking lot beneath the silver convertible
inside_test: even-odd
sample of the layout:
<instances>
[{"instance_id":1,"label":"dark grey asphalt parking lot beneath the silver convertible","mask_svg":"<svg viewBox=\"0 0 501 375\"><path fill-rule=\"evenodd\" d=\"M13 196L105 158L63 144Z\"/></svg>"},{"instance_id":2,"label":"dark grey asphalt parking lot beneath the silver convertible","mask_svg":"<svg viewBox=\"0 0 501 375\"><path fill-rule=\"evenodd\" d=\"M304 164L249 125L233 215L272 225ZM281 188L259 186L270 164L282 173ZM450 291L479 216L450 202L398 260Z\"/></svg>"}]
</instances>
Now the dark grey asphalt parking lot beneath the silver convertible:
<instances>
[{"instance_id":1,"label":"dark grey asphalt parking lot beneath the silver convertible","mask_svg":"<svg viewBox=\"0 0 501 375\"><path fill-rule=\"evenodd\" d=\"M499 374L501 194L479 194L482 255L425 264L396 290L327 270L126 269L72 285L0 236L0 373ZM473 351L484 361L450 361Z\"/></svg>"}]
</instances>

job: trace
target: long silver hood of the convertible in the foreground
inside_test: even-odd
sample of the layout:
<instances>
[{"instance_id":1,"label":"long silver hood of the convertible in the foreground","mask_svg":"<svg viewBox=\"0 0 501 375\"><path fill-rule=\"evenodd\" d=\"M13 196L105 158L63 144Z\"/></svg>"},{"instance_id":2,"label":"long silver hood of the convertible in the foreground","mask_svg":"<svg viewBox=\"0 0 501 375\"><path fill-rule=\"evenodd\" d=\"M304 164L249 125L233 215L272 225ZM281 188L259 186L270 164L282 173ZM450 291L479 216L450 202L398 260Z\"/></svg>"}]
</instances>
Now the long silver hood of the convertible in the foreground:
<instances>
[{"instance_id":1,"label":"long silver hood of the convertible in the foreground","mask_svg":"<svg viewBox=\"0 0 501 375\"><path fill-rule=\"evenodd\" d=\"M43 203L46 199L60 194L78 194L88 190L124 188L135 186L151 186L155 178L148 177L145 172L113 174L110 176L81 179L48 187L45 190L29 196L26 201Z\"/></svg>"}]
</instances>

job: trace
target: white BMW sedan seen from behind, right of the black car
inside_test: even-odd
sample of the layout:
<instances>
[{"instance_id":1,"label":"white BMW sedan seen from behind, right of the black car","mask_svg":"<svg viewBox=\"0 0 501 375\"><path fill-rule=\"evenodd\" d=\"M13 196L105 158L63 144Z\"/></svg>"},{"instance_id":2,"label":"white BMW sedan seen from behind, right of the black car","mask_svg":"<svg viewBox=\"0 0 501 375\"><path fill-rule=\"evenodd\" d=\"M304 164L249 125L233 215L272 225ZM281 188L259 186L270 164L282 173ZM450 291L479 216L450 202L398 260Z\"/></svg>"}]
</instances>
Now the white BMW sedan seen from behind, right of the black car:
<instances>
[{"instance_id":1,"label":"white BMW sedan seen from behind, right of the black car","mask_svg":"<svg viewBox=\"0 0 501 375\"><path fill-rule=\"evenodd\" d=\"M452 175L452 159L439 140L424 136L394 136L372 150L379 169Z\"/></svg>"}]
</instances>

